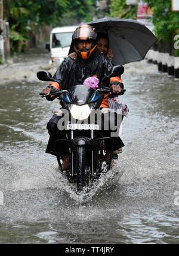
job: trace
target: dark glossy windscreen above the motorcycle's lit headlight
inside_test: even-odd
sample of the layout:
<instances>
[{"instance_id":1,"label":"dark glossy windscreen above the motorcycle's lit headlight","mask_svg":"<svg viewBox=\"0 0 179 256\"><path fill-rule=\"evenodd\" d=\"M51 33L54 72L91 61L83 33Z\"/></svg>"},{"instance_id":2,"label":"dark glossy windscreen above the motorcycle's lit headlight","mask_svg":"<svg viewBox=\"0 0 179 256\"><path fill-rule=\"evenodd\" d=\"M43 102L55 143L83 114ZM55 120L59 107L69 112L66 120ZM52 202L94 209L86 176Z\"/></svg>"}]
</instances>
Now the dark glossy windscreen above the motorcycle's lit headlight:
<instances>
[{"instance_id":1,"label":"dark glossy windscreen above the motorcycle's lit headlight","mask_svg":"<svg viewBox=\"0 0 179 256\"><path fill-rule=\"evenodd\" d=\"M75 85L69 89L69 94L72 104L81 106L88 104L92 94L94 94L94 89L84 85Z\"/></svg>"}]
</instances>

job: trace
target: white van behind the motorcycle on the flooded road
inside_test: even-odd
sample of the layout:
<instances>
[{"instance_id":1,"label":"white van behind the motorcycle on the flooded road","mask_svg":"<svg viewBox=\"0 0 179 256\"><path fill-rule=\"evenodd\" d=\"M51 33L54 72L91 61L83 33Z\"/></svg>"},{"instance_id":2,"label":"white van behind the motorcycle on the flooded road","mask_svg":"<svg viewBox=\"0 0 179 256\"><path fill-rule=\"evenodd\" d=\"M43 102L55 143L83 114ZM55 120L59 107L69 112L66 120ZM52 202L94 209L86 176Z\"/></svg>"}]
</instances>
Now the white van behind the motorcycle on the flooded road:
<instances>
[{"instance_id":1,"label":"white van behind the motorcycle on the flooded road","mask_svg":"<svg viewBox=\"0 0 179 256\"><path fill-rule=\"evenodd\" d=\"M46 49L51 53L50 64L57 62L61 64L69 53L72 35L78 26L63 26L53 28L50 33L50 44L46 44Z\"/></svg>"}]
</instances>

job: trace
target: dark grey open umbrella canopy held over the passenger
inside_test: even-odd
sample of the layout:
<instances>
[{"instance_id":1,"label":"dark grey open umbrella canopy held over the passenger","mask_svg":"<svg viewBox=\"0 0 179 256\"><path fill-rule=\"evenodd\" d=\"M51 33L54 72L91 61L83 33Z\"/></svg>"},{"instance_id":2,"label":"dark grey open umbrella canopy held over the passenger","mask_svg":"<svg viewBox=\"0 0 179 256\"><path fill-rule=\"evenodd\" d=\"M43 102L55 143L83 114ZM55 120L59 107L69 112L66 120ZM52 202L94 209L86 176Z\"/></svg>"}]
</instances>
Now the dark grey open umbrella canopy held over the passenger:
<instances>
[{"instance_id":1,"label":"dark grey open umbrella canopy held over the passenger","mask_svg":"<svg viewBox=\"0 0 179 256\"><path fill-rule=\"evenodd\" d=\"M110 40L115 65L141 61L156 43L155 35L143 24L132 19L105 17L88 22L97 32L104 32Z\"/></svg>"}]
</instances>

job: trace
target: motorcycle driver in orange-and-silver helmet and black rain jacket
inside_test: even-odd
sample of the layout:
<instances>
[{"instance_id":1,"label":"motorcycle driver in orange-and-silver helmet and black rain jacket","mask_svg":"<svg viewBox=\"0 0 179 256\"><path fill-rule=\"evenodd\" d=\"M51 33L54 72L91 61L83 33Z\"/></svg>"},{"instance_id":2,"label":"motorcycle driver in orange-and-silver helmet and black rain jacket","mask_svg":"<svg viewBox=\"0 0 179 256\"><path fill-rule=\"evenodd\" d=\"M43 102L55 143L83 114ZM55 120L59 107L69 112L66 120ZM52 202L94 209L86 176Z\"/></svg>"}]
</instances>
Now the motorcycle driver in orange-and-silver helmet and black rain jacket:
<instances>
[{"instance_id":1,"label":"motorcycle driver in orange-and-silver helmet and black rain jacket","mask_svg":"<svg viewBox=\"0 0 179 256\"><path fill-rule=\"evenodd\" d=\"M54 79L57 82L50 82L49 86L42 91L43 94L50 94L54 90L69 89L71 86L79 85L84 82L85 79L91 76L97 76L101 80L104 76L107 76L112 71L113 65L109 58L100 53L95 52L97 47L97 34L95 29L90 25L79 26L72 36L72 43L75 52L77 53L77 59L66 58L58 67L54 74ZM119 77L112 77L110 82L117 82L116 85L112 85L114 93L121 92L122 80ZM54 100L55 96L50 95L46 97L47 100ZM100 107L106 107L107 95L104 97ZM66 138L66 131L59 131L57 128L58 120L61 116L53 115L47 124L47 129L50 134L47 153L55 155L53 144L57 139ZM118 149L124 146L121 138L113 137L114 149ZM64 147L63 149L63 168L69 167L69 149Z\"/></svg>"}]
</instances>

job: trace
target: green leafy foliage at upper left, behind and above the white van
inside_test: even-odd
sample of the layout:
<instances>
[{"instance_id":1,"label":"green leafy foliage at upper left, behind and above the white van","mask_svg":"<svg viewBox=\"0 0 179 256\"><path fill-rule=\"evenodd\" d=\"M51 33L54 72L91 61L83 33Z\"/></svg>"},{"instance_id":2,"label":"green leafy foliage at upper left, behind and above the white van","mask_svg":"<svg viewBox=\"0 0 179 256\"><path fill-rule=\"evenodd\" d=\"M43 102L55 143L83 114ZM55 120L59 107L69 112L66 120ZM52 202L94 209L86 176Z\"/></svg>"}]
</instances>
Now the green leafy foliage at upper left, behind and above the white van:
<instances>
[{"instance_id":1,"label":"green leafy foliage at upper left, behind and above the white van","mask_svg":"<svg viewBox=\"0 0 179 256\"><path fill-rule=\"evenodd\" d=\"M95 0L8 0L11 49L23 50L43 25L76 25L91 20ZM35 41L35 40L34 40Z\"/></svg>"}]
</instances>

